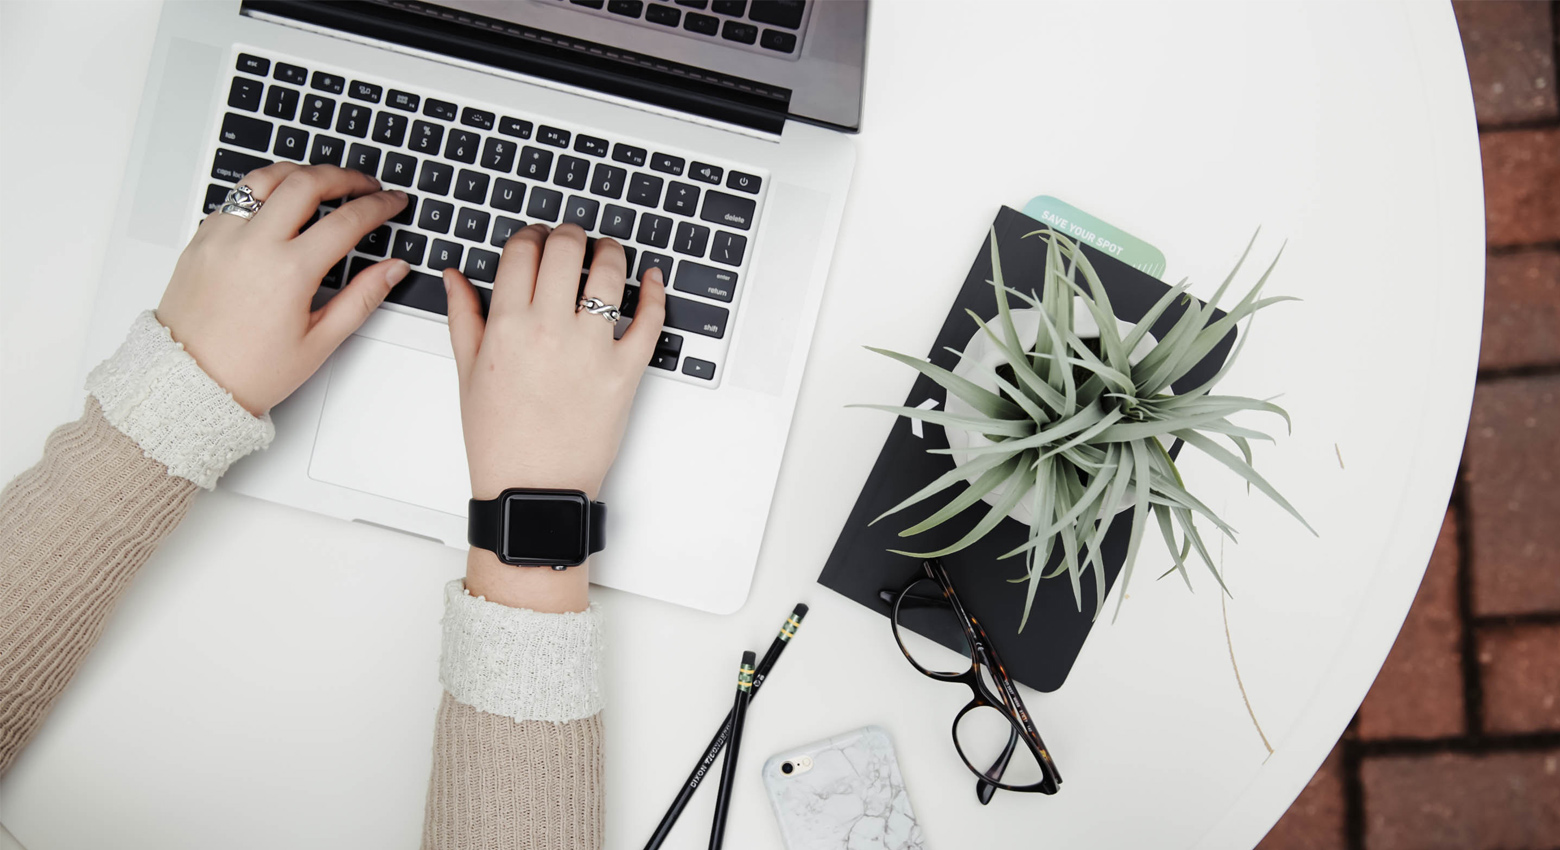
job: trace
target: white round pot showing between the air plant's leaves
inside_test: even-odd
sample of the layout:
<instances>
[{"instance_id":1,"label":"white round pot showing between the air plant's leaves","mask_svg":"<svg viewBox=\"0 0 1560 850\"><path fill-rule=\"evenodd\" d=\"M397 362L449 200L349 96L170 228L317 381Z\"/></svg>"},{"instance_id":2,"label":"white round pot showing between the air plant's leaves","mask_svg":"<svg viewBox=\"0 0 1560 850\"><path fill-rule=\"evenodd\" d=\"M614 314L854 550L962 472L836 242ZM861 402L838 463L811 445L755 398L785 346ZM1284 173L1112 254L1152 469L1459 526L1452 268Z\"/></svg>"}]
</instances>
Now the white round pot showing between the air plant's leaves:
<instances>
[{"instance_id":1,"label":"white round pot showing between the air plant's leaves","mask_svg":"<svg viewBox=\"0 0 1560 850\"><path fill-rule=\"evenodd\" d=\"M1017 342L1023 348L1030 348L1034 345L1034 338L1039 337L1042 324L1044 323L1041 320L1041 312L1036 309L1012 310L1012 329L1019 334ZM991 328L994 334L998 335L1005 334L1002 323L998 321L987 323L987 328ZM1122 320L1115 321L1115 328L1123 337L1133 331L1133 324L1128 324ZM1094 320L1094 313L1089 312L1089 307L1084 306L1083 299L1076 296L1073 298L1073 332L1086 340L1100 338L1100 324ZM1129 359L1136 363L1142 360L1145 354L1153 351L1153 348L1154 348L1153 334L1145 334L1143 338L1133 349ZM961 357L959 363L953 367L953 374L984 390L991 390L992 393L995 393L997 382L992 379L992 373L997 370L997 367L1006 362L1008 359L1003 354L1002 348L998 348L998 345L989 335L986 335L986 331L977 328L975 335L970 337L970 342L964 345L964 357ZM984 365L986 368L977 368L975 363ZM948 393L945 409L948 413L955 416L978 415L978 412L973 407L970 407L964 399L955 396L953 393ZM969 462L970 459L969 449L991 444L991 440L987 440L984 434L977 434L973 430L947 427L944 429L944 434L947 434L948 448L953 449L955 466L963 466L964 463ZM980 476L978 474L970 476L970 480L973 482L977 477ZM981 501L995 507L1006 494L1008 494L1008 487L1006 483L1002 483L997 485L991 493L983 496ZM1115 505L1115 512L1120 513L1129 507L1133 507L1131 502L1123 499L1122 504ZM1008 516L1025 526L1031 526L1034 522L1033 488L1026 496L1019 499L1019 504L1008 512Z\"/></svg>"}]
</instances>

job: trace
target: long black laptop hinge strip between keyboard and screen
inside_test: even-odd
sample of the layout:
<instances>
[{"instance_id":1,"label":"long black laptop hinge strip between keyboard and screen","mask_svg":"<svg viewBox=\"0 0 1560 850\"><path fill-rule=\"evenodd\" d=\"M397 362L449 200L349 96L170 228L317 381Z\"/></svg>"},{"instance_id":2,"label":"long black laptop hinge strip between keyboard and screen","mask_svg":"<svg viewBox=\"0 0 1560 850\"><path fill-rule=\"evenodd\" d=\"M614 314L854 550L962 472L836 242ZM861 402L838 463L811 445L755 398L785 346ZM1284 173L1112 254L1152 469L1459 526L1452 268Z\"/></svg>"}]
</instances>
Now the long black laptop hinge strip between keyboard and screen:
<instances>
[{"instance_id":1,"label":"long black laptop hinge strip between keyboard and screen","mask_svg":"<svg viewBox=\"0 0 1560 850\"><path fill-rule=\"evenodd\" d=\"M242 12L778 136L791 90L410 0L243 0ZM704 122L700 122L704 123Z\"/></svg>"}]
</instances>

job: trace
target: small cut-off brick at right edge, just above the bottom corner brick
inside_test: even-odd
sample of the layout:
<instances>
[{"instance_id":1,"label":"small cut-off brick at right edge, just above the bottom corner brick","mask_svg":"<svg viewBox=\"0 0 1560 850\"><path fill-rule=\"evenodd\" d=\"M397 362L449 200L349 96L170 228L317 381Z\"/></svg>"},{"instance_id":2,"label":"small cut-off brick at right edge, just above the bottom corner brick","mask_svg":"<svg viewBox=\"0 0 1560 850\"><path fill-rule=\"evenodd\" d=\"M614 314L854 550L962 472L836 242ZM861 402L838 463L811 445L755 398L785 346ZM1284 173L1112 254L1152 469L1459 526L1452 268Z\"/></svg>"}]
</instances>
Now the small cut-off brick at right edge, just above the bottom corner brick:
<instances>
[{"instance_id":1,"label":"small cut-off brick at right edge, just above the bottom corner brick","mask_svg":"<svg viewBox=\"0 0 1560 850\"><path fill-rule=\"evenodd\" d=\"M1480 629L1479 682L1485 731L1560 731L1560 622Z\"/></svg>"}]
</instances>

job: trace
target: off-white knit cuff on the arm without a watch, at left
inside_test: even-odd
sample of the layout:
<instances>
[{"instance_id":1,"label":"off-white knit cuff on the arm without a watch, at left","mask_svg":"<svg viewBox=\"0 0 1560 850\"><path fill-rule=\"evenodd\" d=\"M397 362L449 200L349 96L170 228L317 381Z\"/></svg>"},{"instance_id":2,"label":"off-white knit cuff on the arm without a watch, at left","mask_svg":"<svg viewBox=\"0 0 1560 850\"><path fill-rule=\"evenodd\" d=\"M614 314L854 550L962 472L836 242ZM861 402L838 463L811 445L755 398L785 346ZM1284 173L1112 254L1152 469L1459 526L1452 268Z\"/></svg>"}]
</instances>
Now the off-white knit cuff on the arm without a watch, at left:
<instances>
[{"instance_id":1,"label":"off-white knit cuff on the arm without a watch, at left","mask_svg":"<svg viewBox=\"0 0 1560 850\"><path fill-rule=\"evenodd\" d=\"M276 437L270 413L256 418L234 401L151 310L136 317L119 351L92 370L87 393L147 457L206 490Z\"/></svg>"}]
</instances>

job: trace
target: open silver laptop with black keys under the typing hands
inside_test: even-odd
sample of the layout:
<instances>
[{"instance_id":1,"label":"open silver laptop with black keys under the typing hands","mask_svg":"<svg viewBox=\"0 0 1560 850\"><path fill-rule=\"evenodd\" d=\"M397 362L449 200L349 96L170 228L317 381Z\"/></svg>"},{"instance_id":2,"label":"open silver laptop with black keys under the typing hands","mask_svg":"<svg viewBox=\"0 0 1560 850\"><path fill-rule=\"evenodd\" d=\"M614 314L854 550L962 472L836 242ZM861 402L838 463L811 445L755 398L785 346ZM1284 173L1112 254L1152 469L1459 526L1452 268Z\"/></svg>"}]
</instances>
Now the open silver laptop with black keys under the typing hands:
<instances>
[{"instance_id":1,"label":"open silver laptop with black keys under the typing hands","mask_svg":"<svg viewBox=\"0 0 1560 850\"><path fill-rule=\"evenodd\" d=\"M404 189L415 201L321 298L388 256L409 279L222 487L463 547L440 270L491 287L509 234L574 221L622 242L633 281L660 267L669 285L591 577L735 611L850 184L864 59L864 0L168 3L86 365L158 303L246 172L329 162Z\"/></svg>"}]
</instances>

